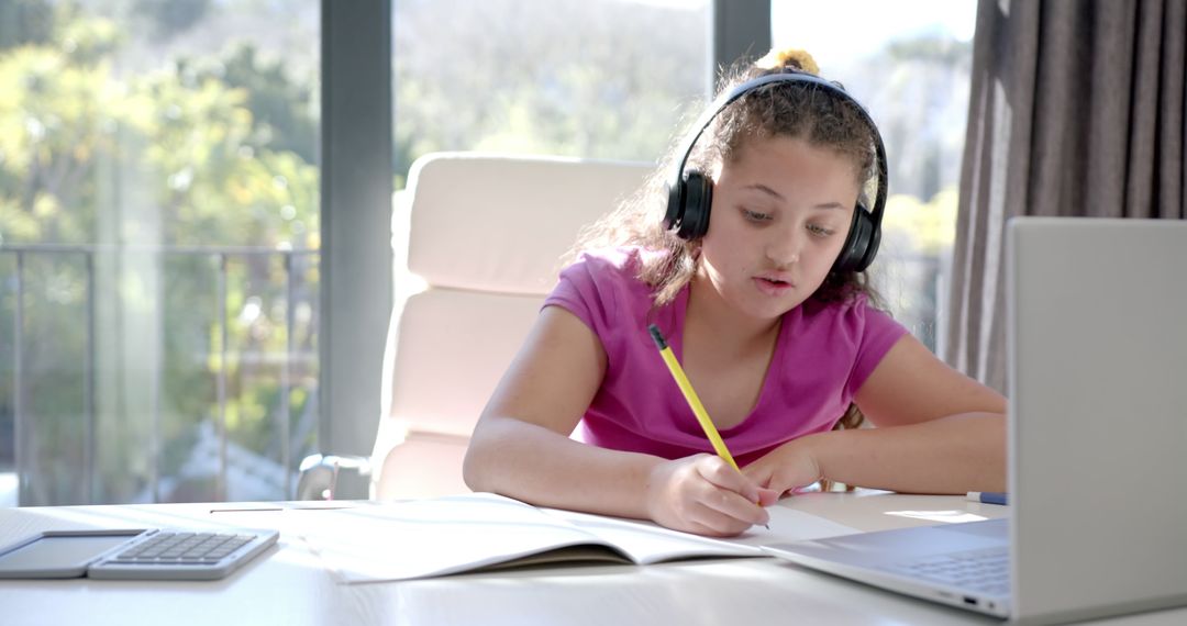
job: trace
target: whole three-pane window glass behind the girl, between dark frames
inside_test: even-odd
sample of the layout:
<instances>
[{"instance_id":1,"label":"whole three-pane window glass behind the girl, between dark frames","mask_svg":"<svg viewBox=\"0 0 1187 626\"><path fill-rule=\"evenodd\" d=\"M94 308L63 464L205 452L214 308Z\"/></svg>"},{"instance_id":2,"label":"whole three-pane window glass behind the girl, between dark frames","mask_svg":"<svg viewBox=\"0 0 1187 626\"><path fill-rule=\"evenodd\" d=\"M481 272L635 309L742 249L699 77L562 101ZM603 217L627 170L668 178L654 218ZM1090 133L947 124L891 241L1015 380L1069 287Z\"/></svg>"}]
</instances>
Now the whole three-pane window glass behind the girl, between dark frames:
<instances>
[{"instance_id":1,"label":"whole three-pane window glass behind the girl, between dark frames","mask_svg":"<svg viewBox=\"0 0 1187 626\"><path fill-rule=\"evenodd\" d=\"M772 23L880 123L882 290L934 347L973 2L914 1ZM394 2L396 189L443 149L655 160L704 104L710 13ZM0 505L293 493L325 427L320 43L307 0L0 0Z\"/></svg>"}]
</instances>

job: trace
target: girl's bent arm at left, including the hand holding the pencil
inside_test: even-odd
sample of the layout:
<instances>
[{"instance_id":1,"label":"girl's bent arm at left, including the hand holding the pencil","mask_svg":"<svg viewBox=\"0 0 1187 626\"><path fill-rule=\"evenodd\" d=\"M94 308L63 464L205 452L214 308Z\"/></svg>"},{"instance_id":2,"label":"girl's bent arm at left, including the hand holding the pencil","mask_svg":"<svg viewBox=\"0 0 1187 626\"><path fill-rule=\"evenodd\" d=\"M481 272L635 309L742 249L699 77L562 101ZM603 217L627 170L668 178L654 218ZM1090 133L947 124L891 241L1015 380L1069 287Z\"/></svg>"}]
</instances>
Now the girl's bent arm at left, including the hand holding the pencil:
<instances>
[{"instance_id":1,"label":"girl's bent arm at left, including the hand holding the pencil","mask_svg":"<svg viewBox=\"0 0 1187 626\"><path fill-rule=\"evenodd\" d=\"M773 494L716 456L667 461L569 439L605 368L597 336L545 307L475 427L463 466L470 488L704 535L767 522L755 503Z\"/></svg>"}]
</instances>

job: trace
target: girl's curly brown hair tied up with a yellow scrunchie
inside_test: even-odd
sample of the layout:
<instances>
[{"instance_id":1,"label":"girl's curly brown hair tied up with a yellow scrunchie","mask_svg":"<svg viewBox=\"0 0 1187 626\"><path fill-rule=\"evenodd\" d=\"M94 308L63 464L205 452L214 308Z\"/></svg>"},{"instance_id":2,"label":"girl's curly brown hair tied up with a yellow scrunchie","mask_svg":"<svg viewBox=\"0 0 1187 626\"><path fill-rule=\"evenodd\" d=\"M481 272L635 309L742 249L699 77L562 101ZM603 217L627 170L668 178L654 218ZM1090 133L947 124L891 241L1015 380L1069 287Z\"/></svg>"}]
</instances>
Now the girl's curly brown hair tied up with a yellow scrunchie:
<instances>
[{"instance_id":1,"label":"girl's curly brown hair tied up with a yellow scrunchie","mask_svg":"<svg viewBox=\"0 0 1187 626\"><path fill-rule=\"evenodd\" d=\"M723 72L717 85L725 94L737 85L779 72L818 75L811 55L801 50L772 51L756 63L736 63ZM839 85L838 85L839 87ZM697 272L700 239L681 239L662 225L667 209L669 172L684 156L685 136L678 135L647 183L609 215L582 232L566 261L583 250L611 247L639 247L660 253L643 255L639 279L653 288L656 307L669 304ZM724 109L705 128L688 154L686 168L719 172L734 162L747 142L788 136L806 140L813 147L834 151L853 166L855 185L863 199L875 180L875 129L857 106L830 90L807 82L774 82L748 91ZM868 205L868 204L867 204ZM845 301L864 294L870 305L884 308L865 272L830 272L810 298L821 302ZM851 404L837 428L857 428L864 416ZM829 485L825 485L826 487Z\"/></svg>"}]
</instances>

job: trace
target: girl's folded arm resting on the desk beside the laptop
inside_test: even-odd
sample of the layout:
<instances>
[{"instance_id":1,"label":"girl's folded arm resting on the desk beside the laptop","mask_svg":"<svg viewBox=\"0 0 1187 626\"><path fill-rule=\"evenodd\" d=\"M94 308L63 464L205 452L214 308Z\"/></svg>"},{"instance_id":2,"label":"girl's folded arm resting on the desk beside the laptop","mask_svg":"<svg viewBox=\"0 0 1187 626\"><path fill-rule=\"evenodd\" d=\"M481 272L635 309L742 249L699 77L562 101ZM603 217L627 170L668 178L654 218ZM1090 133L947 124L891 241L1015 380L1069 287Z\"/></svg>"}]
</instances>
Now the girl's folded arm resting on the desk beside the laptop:
<instances>
[{"instance_id":1,"label":"girl's folded arm resting on the desk beside the laptop","mask_svg":"<svg viewBox=\"0 0 1187 626\"><path fill-rule=\"evenodd\" d=\"M877 428L789 441L745 473L780 493L820 478L912 493L1005 491L1005 398L914 337L887 352L855 402Z\"/></svg>"}]
</instances>

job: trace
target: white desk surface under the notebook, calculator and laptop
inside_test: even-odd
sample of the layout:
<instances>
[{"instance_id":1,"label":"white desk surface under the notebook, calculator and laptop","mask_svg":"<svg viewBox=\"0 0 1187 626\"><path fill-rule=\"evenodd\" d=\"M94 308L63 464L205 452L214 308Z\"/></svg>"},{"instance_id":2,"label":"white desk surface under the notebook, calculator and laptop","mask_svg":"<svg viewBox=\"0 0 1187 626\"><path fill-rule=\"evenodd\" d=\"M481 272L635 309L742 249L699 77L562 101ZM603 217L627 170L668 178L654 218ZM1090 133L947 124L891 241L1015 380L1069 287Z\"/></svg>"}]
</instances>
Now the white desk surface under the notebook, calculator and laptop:
<instances>
[{"instance_id":1,"label":"white desk surface under the notebook, calculator and laptop","mask_svg":"<svg viewBox=\"0 0 1187 626\"><path fill-rule=\"evenodd\" d=\"M811 493L785 500L862 530L932 524L965 513L1001 517L1001 506L958 497ZM0 510L0 544L50 529L138 525L261 525L267 512L216 513L228 504L63 506ZM264 507L267 505L243 505ZM386 583L336 585L299 539L214 582L126 582L88 579L0 581L0 622L107 624L597 624L716 625L1001 624L903 598L773 558L659 566L578 566ZM1181 625L1187 608L1098 624Z\"/></svg>"}]
</instances>

